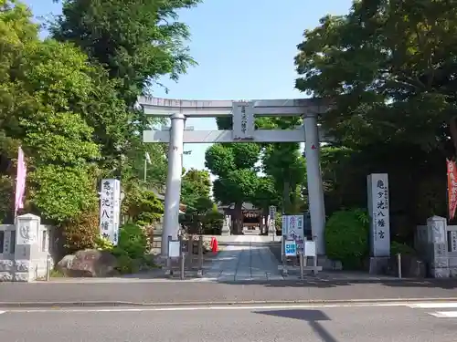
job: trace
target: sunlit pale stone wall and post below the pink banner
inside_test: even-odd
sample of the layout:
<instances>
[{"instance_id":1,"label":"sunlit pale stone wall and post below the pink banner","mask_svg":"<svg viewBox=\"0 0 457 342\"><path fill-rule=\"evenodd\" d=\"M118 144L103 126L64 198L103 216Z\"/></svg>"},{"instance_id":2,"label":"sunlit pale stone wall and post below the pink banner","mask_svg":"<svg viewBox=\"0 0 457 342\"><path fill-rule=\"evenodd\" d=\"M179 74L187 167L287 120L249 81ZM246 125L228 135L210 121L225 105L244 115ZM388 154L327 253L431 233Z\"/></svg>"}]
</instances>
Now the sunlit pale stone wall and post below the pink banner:
<instances>
[{"instance_id":1,"label":"sunlit pale stone wall and post below the pink banner","mask_svg":"<svg viewBox=\"0 0 457 342\"><path fill-rule=\"evenodd\" d=\"M17 223L0 225L0 282L30 282L46 277L50 258L51 227L36 215L17 217ZM0 244L2 243L0 239Z\"/></svg>"}]
</instances>

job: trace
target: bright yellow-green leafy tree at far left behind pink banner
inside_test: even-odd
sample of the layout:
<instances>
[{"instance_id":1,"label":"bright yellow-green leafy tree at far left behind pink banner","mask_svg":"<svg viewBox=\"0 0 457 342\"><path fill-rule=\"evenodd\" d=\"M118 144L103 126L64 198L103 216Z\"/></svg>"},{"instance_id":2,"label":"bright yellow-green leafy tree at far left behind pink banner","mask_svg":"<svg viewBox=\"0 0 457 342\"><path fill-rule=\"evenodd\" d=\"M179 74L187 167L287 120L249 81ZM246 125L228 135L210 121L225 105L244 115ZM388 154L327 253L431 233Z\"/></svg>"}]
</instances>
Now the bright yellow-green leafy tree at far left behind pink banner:
<instances>
[{"instance_id":1,"label":"bright yellow-green leafy tree at far left behind pink banner","mask_svg":"<svg viewBox=\"0 0 457 342\"><path fill-rule=\"evenodd\" d=\"M100 147L82 109L95 90L93 69L79 49L41 42L23 5L5 2L2 21L11 39L0 44L12 53L2 65L0 127L26 151L30 203L44 218L62 222L96 202Z\"/></svg>"}]
</instances>

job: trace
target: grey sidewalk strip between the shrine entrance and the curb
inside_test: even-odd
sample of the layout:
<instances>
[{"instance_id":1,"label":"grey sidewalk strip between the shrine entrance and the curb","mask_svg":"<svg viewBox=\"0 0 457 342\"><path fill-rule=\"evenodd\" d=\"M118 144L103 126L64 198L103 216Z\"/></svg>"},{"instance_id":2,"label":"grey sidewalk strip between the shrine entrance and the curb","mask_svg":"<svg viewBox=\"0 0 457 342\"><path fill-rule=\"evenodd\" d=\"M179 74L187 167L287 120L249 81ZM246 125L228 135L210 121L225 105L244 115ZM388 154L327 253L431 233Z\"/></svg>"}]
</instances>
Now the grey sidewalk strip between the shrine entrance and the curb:
<instances>
[{"instance_id":1,"label":"grey sidewalk strip between the shrine entrance and the curb","mask_svg":"<svg viewBox=\"0 0 457 342\"><path fill-rule=\"evenodd\" d=\"M393 282L277 281L216 284L200 282L53 284L0 283L0 306L35 303L196 303L251 301L332 301L452 298L457 281Z\"/></svg>"}]
</instances>

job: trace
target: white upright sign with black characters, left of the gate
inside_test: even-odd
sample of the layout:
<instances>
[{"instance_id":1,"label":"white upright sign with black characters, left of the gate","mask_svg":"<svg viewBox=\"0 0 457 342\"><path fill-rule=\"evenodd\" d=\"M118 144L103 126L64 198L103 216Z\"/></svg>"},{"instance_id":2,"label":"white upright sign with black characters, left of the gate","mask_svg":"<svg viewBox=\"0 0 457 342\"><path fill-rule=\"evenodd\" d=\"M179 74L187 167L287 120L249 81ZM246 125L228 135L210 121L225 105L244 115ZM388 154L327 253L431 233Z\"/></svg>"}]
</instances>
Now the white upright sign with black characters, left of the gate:
<instances>
[{"instance_id":1,"label":"white upright sign with black characters, left of the gate","mask_svg":"<svg viewBox=\"0 0 457 342\"><path fill-rule=\"evenodd\" d=\"M100 190L100 233L117 245L121 219L121 181L101 180Z\"/></svg>"}]
</instances>

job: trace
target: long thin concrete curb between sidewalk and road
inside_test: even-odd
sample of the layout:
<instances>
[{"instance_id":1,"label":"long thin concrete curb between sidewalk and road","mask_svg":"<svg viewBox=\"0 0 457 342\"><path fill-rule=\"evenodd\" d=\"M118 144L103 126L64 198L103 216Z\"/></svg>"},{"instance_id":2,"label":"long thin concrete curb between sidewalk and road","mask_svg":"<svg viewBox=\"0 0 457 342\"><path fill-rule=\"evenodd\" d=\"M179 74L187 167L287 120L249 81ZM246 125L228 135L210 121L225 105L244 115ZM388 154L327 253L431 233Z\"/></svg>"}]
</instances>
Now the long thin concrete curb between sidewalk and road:
<instances>
[{"instance_id":1,"label":"long thin concrete curb between sidewalk and road","mask_svg":"<svg viewBox=\"0 0 457 342\"><path fill-rule=\"evenodd\" d=\"M141 307L186 307L186 306L283 306L283 305L376 305L395 303L423 302L457 302L457 297L435 298L377 298L377 299L309 299L309 300L261 300L261 301L218 301L218 302L177 302L177 303L135 303L122 301L87 301L87 302L0 302L0 308L61 308L61 307L107 307L107 306L141 306Z\"/></svg>"}]
</instances>

